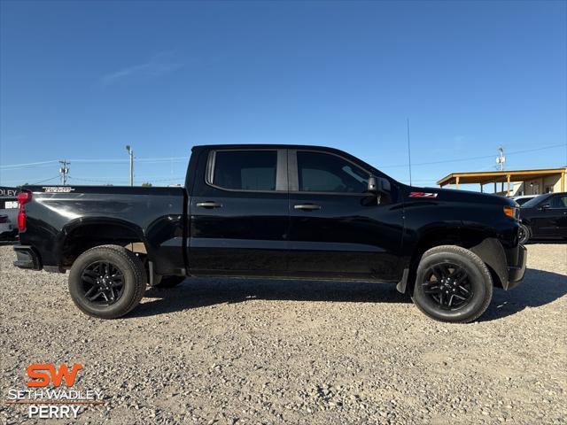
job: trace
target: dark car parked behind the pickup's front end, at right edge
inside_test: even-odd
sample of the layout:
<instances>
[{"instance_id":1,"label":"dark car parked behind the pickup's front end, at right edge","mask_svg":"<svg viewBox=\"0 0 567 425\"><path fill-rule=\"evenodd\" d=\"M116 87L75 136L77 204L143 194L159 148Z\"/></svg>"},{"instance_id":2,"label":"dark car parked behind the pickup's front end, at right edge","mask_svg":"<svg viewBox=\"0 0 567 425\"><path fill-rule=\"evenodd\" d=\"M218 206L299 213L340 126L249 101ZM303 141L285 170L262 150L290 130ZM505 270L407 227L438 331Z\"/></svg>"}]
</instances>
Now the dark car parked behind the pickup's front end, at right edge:
<instances>
[{"instance_id":1,"label":"dark car parked behind the pickup's front end, at right edge","mask_svg":"<svg viewBox=\"0 0 567 425\"><path fill-rule=\"evenodd\" d=\"M567 240L567 192L546 193L522 205L518 236L520 243Z\"/></svg>"}]
</instances>

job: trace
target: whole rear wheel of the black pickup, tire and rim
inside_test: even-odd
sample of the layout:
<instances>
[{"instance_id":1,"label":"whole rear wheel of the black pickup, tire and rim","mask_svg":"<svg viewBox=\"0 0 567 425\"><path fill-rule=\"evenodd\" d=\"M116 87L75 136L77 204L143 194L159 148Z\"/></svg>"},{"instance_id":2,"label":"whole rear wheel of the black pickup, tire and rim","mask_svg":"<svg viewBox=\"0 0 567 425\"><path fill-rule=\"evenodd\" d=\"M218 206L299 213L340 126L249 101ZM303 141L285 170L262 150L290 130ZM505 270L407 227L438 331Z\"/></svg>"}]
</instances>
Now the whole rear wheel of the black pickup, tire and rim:
<instances>
[{"instance_id":1,"label":"whole rear wheel of the black pickup, tire and rim","mask_svg":"<svg viewBox=\"0 0 567 425\"><path fill-rule=\"evenodd\" d=\"M74 304L100 319L116 319L132 311L144 297L146 284L142 261L118 245L83 252L69 274Z\"/></svg>"}]
</instances>

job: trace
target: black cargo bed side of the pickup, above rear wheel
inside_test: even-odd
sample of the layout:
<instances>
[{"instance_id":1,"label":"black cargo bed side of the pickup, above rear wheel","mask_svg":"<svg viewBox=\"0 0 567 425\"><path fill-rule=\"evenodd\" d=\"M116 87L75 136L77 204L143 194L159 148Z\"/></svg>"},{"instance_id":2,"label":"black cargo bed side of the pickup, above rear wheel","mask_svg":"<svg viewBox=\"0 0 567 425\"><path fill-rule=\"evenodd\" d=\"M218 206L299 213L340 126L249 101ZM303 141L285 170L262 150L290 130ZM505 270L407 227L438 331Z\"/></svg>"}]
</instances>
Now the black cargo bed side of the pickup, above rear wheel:
<instances>
[{"instance_id":1,"label":"black cargo bed side of the pickup, above rear wheel","mask_svg":"<svg viewBox=\"0 0 567 425\"><path fill-rule=\"evenodd\" d=\"M62 251L68 238L112 235L117 242L142 242L164 274L183 268L185 190L124 186L26 186L32 201L26 205L27 229L22 245L32 245L42 267L70 267L73 252ZM49 224L48 224L49 223ZM74 231L79 228L80 232ZM88 225L85 228L85 225ZM119 231L117 231L119 230ZM136 239L136 241L134 241ZM69 250L67 248L67 250Z\"/></svg>"}]
</instances>

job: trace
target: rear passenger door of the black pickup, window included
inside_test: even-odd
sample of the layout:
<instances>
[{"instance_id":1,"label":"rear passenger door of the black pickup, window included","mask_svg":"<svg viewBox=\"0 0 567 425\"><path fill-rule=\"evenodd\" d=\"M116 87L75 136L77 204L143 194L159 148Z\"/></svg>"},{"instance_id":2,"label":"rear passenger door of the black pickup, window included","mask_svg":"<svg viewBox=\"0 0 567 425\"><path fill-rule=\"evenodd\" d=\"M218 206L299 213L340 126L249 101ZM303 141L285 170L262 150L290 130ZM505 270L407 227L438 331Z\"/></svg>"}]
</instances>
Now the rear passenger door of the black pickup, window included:
<instances>
[{"instance_id":1,"label":"rear passenger door of the black pickup, window included","mask_svg":"<svg viewBox=\"0 0 567 425\"><path fill-rule=\"evenodd\" d=\"M201 157L189 205L190 273L284 275L286 151L222 149Z\"/></svg>"}]
</instances>

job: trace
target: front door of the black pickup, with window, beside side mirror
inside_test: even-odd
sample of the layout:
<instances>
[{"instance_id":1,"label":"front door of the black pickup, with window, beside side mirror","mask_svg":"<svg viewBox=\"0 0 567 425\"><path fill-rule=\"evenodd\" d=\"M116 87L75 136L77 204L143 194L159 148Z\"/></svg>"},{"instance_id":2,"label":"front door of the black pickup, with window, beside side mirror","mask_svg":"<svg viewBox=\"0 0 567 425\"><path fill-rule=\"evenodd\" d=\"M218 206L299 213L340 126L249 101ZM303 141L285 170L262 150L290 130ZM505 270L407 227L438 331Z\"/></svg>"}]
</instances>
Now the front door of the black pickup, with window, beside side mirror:
<instances>
[{"instance_id":1,"label":"front door of the black pickup, with window, beside side mirror","mask_svg":"<svg viewBox=\"0 0 567 425\"><path fill-rule=\"evenodd\" d=\"M369 195L369 171L336 154L289 151L289 269L298 276L400 279L397 189Z\"/></svg>"}]
</instances>

